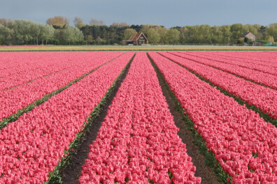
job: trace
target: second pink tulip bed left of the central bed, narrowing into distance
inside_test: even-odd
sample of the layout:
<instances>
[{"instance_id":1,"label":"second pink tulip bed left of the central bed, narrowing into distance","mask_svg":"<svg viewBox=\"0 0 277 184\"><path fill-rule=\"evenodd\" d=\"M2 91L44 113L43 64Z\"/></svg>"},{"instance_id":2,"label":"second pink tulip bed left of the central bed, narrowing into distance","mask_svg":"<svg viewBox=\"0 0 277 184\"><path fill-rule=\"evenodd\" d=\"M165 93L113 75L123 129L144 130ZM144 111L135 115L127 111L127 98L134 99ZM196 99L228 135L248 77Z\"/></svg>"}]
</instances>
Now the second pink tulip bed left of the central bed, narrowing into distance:
<instances>
[{"instance_id":1,"label":"second pink tulip bed left of the central bed, narrowing into distance","mask_svg":"<svg viewBox=\"0 0 277 184\"><path fill-rule=\"evenodd\" d=\"M101 66L101 64L110 61L120 54L123 54L123 52L111 52L107 54L104 52L85 52L80 54L78 59L74 59L74 63L69 63L69 67L64 70L54 72L52 75L41 77L33 82L22 84L13 89L1 91L0 119L16 113L19 109L26 108L27 105L35 100L43 98L45 94L61 89L74 79L90 72L90 70ZM68 57L68 53L64 52L64 56ZM55 66L59 68L59 58L54 61ZM36 70L33 72L36 72Z\"/></svg>"}]
</instances>

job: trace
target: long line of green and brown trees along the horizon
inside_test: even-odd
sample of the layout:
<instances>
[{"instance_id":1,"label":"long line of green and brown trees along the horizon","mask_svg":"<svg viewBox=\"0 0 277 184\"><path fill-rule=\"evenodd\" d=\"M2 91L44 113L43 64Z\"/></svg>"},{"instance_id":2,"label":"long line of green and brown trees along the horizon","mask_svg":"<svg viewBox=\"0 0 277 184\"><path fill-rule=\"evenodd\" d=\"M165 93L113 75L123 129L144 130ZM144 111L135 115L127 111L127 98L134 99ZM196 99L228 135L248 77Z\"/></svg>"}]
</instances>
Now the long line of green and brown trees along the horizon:
<instances>
[{"instance_id":1,"label":"long line of green and brown trees along the horizon","mask_svg":"<svg viewBox=\"0 0 277 184\"><path fill-rule=\"evenodd\" d=\"M46 24L29 20L0 19L0 45L122 45L134 33L143 32L148 43L153 45L191 45L191 44L241 44L241 35L250 31L256 40L262 43L274 43L277 40L277 23L262 26L260 24L232 24L210 26L164 26L143 24L129 25L114 22L107 26L102 20L90 20L84 24L82 18L75 17L74 25L62 16L50 17Z\"/></svg>"}]
</instances>

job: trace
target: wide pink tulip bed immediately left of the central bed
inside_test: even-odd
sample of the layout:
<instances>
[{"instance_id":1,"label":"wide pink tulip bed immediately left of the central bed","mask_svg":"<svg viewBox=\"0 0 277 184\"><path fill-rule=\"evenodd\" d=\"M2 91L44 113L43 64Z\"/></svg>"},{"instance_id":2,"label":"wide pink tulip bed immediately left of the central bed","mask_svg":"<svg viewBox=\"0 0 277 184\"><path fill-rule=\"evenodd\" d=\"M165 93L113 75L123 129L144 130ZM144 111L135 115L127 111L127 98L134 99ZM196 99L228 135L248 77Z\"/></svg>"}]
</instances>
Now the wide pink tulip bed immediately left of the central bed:
<instances>
[{"instance_id":1,"label":"wide pink tulip bed immediately left of the central bed","mask_svg":"<svg viewBox=\"0 0 277 184\"><path fill-rule=\"evenodd\" d=\"M43 183L134 52L87 75L0 130L0 183Z\"/></svg>"}]
</instances>

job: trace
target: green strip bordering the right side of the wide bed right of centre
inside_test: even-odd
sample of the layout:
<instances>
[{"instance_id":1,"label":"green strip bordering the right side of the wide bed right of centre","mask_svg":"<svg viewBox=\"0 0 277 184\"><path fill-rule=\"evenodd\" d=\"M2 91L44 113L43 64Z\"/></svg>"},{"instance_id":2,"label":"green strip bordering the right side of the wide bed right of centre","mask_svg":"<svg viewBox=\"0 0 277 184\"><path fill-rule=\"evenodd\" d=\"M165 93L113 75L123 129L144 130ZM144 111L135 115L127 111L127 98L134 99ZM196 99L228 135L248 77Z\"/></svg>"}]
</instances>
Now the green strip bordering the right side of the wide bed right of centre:
<instances>
[{"instance_id":1,"label":"green strip bordering the right side of the wide bed right of centre","mask_svg":"<svg viewBox=\"0 0 277 184\"><path fill-rule=\"evenodd\" d=\"M164 57L166 59L169 59L166 56L164 56ZM169 61L172 61L173 63L176 63L178 66L180 66L182 68L185 68L187 71L189 71L189 72L193 73L194 75L196 75L202 81L210 84L213 87L216 87L216 89L218 89L221 93L223 93L223 94L225 94L225 95L227 95L229 97L234 98L234 100L236 100L236 102L238 102L239 105L246 105L246 108L248 108L250 110L253 110L254 112L258 113L259 116L264 119L264 121L266 121L267 123L271 123L272 125L276 126L276 128L277 128L277 119L275 120L274 118L271 118L267 112L265 112L265 113L262 112L262 110L259 109L258 107L256 107L255 105L250 105L248 102L246 102L246 101L242 100L241 98L239 98L239 96L236 96L236 95L234 95L232 93L229 93L227 90L220 88L220 86L217 86L217 85L213 84L213 82L209 81L208 79L205 79L204 77L199 75L197 72L194 72L194 71L186 68L185 66L181 65L180 63L177 63L177 62L175 62L175 61L173 61L171 59L169 59Z\"/></svg>"}]
</instances>

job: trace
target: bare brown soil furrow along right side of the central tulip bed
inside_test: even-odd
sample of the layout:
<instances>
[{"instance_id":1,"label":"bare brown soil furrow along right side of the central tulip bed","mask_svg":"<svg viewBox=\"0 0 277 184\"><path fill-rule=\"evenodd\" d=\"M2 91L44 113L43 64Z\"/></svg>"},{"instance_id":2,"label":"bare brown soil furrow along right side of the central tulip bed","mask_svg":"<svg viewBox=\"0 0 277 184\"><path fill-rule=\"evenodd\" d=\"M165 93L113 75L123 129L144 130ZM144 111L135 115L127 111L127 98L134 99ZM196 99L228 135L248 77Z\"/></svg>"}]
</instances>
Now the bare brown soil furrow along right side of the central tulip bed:
<instances>
[{"instance_id":1,"label":"bare brown soil furrow along right side of the central tulip bed","mask_svg":"<svg viewBox=\"0 0 277 184\"><path fill-rule=\"evenodd\" d=\"M155 68L155 67L154 67ZM192 137L192 132L188 129L182 114L178 111L174 99L171 98L169 90L159 74L157 69L157 77L159 79L159 85L162 87L162 93L166 98L166 102L169 105L170 112L174 118L176 127L180 128L178 136L182 139L183 143L186 144L187 154L192 158L193 165L196 167L195 176L201 177L201 184L214 184L219 183L218 177L215 172L208 166L205 165L205 158L198 149L194 142L194 137Z\"/></svg>"}]
</instances>

